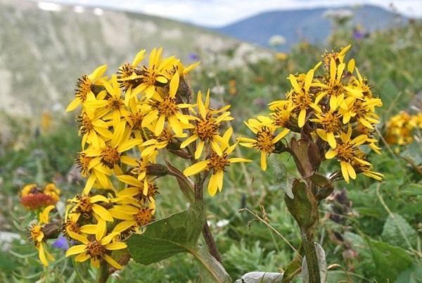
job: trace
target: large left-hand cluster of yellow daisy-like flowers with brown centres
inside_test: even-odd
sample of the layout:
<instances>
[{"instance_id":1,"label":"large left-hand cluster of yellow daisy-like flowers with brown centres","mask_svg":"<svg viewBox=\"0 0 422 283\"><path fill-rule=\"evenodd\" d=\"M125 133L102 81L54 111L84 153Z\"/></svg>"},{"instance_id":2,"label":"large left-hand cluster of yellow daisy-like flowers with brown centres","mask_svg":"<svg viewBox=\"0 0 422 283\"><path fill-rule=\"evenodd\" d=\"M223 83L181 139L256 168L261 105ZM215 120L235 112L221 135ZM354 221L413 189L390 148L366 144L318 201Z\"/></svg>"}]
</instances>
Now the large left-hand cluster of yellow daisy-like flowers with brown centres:
<instances>
[{"instance_id":1,"label":"large left-hand cluster of yellow daisy-like flowers with brown centres","mask_svg":"<svg viewBox=\"0 0 422 283\"><path fill-rule=\"evenodd\" d=\"M142 50L110 77L106 65L83 75L67 108L82 106L77 165L87 182L68 200L63 231L78 244L66 256L90 259L96 268L101 260L122 268L113 251L125 249L124 240L154 220L155 179L168 173L158 163L161 152L190 161L187 176L211 173L211 195L222 189L226 165L246 161L228 157L236 146L229 144L231 128L220 135L222 123L233 119L230 106L212 108L209 92L205 102L198 92L191 103L186 75L198 63L185 68L174 56L163 58L162 49L153 49L146 65L144 57Z\"/></svg>"}]
</instances>

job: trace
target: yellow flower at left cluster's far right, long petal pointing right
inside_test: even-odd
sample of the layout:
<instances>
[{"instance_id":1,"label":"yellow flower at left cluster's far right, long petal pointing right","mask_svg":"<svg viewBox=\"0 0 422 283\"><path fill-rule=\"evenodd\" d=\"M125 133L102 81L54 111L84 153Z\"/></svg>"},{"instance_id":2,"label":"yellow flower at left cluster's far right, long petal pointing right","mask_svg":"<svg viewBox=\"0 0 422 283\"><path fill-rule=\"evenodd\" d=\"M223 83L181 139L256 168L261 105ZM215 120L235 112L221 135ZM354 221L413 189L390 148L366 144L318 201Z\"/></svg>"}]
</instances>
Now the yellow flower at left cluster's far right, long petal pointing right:
<instances>
[{"instance_id":1,"label":"yellow flower at left cluster's far right, long petal pointing right","mask_svg":"<svg viewBox=\"0 0 422 283\"><path fill-rule=\"evenodd\" d=\"M224 169L226 168L226 166L230 165L231 163L251 161L250 159L239 157L228 158L229 154L231 154L237 146L237 143L233 144L232 146L229 146L229 140L232 133L233 129L229 128L228 130L226 130L222 137L223 142L221 143L221 156L215 151L211 151L210 155L207 156L207 159L205 161L199 161L198 163L195 163L186 168L183 172L184 175L188 177L191 175L196 175L205 170L210 170L211 177L210 181L208 182L208 194L210 194L210 196L214 196L217 192L217 189L219 191L222 190Z\"/></svg>"}]
</instances>

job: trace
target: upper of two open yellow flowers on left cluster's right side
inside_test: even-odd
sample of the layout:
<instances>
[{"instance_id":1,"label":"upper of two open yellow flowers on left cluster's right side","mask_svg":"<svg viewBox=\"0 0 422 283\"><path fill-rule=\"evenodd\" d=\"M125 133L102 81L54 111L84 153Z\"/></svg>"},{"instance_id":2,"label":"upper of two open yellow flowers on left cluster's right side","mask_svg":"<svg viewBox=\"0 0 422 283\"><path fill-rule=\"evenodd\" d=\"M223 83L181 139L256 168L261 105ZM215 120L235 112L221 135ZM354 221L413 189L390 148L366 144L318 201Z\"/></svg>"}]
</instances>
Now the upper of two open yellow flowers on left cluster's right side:
<instances>
[{"instance_id":1,"label":"upper of two open yellow flowers on left cluster's right side","mask_svg":"<svg viewBox=\"0 0 422 283\"><path fill-rule=\"evenodd\" d=\"M181 143L180 148L184 149L186 146L199 140L198 146L196 146L195 159L200 158L204 146L210 144L212 150L215 151L219 156L222 156L222 149L219 146L219 142L222 142L222 137L219 136L219 126L223 121L233 120L230 116L230 112L227 111L230 106L225 106L219 110L210 109L210 91L208 90L205 98L205 103L202 101L202 93L198 92L198 111L199 117L193 120L193 134L188 137L184 142ZM222 113L221 115L214 117L215 114Z\"/></svg>"}]
</instances>

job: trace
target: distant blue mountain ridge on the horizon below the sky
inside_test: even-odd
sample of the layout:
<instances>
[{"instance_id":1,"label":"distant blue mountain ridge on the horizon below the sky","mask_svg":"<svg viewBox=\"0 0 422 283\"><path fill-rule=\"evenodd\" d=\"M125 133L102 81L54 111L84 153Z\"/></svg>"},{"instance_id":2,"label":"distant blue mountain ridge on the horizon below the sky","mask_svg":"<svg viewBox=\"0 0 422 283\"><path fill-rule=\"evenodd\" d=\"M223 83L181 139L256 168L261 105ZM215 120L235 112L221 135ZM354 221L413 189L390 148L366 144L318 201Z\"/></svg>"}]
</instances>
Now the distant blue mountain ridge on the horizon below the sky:
<instances>
[{"instance_id":1,"label":"distant blue mountain ridge on the horizon below the sky","mask_svg":"<svg viewBox=\"0 0 422 283\"><path fill-rule=\"evenodd\" d=\"M362 25L366 31L385 29L395 18L404 16L392 13L378 6L359 6L334 8L353 11L352 23ZM324 18L328 8L311 8L300 10L269 11L239 20L236 23L218 27L215 30L261 46L269 46L269 39L274 34L286 38L283 50L288 50L301 39L312 43L324 42L331 33L331 20Z\"/></svg>"}]
</instances>

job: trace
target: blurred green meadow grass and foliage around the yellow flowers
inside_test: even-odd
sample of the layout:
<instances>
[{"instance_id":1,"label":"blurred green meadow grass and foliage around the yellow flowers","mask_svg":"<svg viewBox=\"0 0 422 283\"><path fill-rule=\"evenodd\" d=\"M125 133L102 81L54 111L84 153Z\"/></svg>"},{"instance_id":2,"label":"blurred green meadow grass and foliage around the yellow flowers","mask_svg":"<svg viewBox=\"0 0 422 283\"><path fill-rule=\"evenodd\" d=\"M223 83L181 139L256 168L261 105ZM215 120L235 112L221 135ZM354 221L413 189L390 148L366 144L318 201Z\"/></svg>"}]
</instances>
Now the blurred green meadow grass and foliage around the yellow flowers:
<instances>
[{"instance_id":1,"label":"blurred green meadow grass and foliage around the yellow flowers","mask_svg":"<svg viewBox=\"0 0 422 283\"><path fill-rule=\"evenodd\" d=\"M342 40L350 42L352 39L346 35ZM355 58L360 72L369 78L374 92L384 101L381 109L383 122L409 108L409 103L422 89L421 36L422 24L411 23L396 30L372 34L361 42L352 42L350 56ZM193 89L205 91L216 84L227 89L229 80L236 80L236 96L214 97L217 101L231 103L232 114L236 117L233 122L235 131L242 134L245 128L242 121L266 113L267 103L283 98L288 89L288 74L312 67L323 51L319 46L297 46L283 62L261 61L229 70L215 69L210 65L193 75ZM210 76L210 72L215 75ZM23 145L21 149L13 149L18 146L8 142L0 156L0 214L3 215L0 230L18 232L23 237L25 232L18 228L25 228L30 221L18 204L18 192L23 184L55 180L63 191L63 200L81 189L80 184L68 184L65 180L80 147L75 123L70 118L63 118L54 121L53 130L41 131L38 135L29 134L30 127L25 126L28 123L30 121L21 121L13 125L13 134ZM386 282L387 277L390 282L418 282L417 278L422 277L422 178L407 161L392 154L394 149L382 142L381 146L383 155L373 154L369 159L376 171L385 175L384 182L374 182L363 176L349 185L339 182L336 189L345 189L350 202L329 199L319 206L321 225L315 239L326 251L328 265L337 264L328 272L328 282L342 279ZM408 150L411 157L420 162L422 152L418 146L420 144L413 144L400 150ZM257 154L243 151L245 157L255 159L255 162L248 164L246 170L241 170L240 166L229 167L222 193L206 198L210 226L224 266L233 279L255 270L281 272L294 256L286 241L252 214L239 212L240 208L248 208L261 218L267 218L269 224L296 248L300 244L298 227L283 202L286 183L275 183L274 166L271 166L283 163L286 178L292 177L295 174L293 161L284 154L278 160L272 156L269 170L262 172ZM177 165L183 168L182 164ZM324 170L333 168L330 163L324 166ZM252 180L252 184L248 184L247 179ZM158 184L159 219L186 208L186 201L171 177L160 179ZM337 218L333 221L335 216ZM219 220L228 220L228 224L218 227ZM70 259L63 258L50 272L43 270L36 257L22 256L32 255L34 251L31 244L15 241L10 250L0 253L0 282L34 282L42 276L46 282L72 282L66 280L73 277L73 282L80 282ZM61 251L55 250L55 254L56 258L63 257ZM87 278L92 273L86 265L77 272ZM191 256L180 254L148 266L131 262L119 273L119 278L113 277L110 282L197 282L200 272Z\"/></svg>"}]
</instances>

